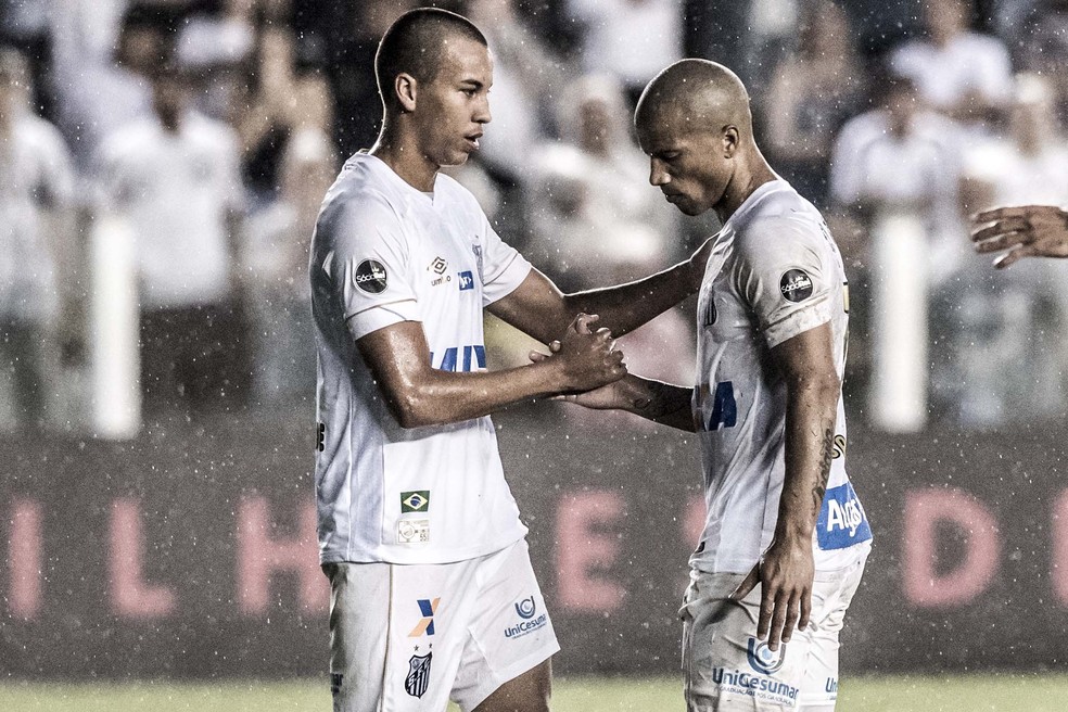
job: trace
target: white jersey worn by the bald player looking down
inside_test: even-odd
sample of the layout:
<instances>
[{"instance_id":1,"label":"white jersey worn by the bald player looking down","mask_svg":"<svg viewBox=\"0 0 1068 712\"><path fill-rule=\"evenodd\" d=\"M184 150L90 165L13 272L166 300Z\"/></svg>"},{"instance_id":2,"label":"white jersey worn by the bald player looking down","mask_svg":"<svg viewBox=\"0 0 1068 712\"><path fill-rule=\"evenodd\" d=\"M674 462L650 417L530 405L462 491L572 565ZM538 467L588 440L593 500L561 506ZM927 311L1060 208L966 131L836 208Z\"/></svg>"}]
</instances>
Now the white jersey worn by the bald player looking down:
<instances>
[{"instance_id":1,"label":"white jersey worn by the bald player looking down","mask_svg":"<svg viewBox=\"0 0 1068 712\"><path fill-rule=\"evenodd\" d=\"M785 180L758 188L720 231L698 301L694 409L708 519L694 568L748 572L771 545L786 471L787 395L771 349L829 322L841 378L848 312L842 258L819 212ZM856 562L872 538L844 455L839 395L830 478L813 533L817 570Z\"/></svg>"}]
</instances>

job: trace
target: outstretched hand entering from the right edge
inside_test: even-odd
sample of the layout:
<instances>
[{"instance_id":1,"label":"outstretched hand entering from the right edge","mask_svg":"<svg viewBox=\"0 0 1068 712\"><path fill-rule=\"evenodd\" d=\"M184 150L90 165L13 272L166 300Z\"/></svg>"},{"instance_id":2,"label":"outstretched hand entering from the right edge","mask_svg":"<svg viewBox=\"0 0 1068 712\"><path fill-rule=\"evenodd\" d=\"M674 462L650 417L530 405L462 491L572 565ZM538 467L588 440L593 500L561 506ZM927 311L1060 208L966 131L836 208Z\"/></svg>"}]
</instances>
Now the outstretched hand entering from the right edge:
<instances>
[{"instance_id":1,"label":"outstretched hand entering from the right edge","mask_svg":"<svg viewBox=\"0 0 1068 712\"><path fill-rule=\"evenodd\" d=\"M971 218L976 252L1007 250L999 269L1024 257L1068 257L1068 213L1056 205L999 207Z\"/></svg>"}]
</instances>

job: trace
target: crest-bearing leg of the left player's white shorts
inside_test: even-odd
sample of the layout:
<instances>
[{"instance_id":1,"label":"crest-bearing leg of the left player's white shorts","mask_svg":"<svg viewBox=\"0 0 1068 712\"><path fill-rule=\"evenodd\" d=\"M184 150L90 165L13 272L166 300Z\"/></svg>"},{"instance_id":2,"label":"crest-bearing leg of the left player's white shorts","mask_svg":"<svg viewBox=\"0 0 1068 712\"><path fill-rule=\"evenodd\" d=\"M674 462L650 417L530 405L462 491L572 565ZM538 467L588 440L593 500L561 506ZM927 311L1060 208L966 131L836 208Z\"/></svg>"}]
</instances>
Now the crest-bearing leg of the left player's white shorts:
<instances>
[{"instance_id":1,"label":"crest-bearing leg of the left player's white shorts","mask_svg":"<svg viewBox=\"0 0 1068 712\"><path fill-rule=\"evenodd\" d=\"M476 561L323 567L335 712L445 709L469 637Z\"/></svg>"}]
</instances>

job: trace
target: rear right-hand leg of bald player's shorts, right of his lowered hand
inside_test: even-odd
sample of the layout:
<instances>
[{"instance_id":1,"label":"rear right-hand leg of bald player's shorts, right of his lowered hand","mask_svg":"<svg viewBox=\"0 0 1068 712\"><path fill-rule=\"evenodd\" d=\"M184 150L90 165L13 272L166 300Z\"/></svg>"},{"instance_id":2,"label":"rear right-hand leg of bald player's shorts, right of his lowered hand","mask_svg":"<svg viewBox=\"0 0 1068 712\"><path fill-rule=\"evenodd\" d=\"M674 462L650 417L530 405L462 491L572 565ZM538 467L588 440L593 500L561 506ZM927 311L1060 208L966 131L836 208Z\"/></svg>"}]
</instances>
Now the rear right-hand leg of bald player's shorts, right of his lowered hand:
<instances>
[{"instance_id":1,"label":"rear right-hand leg of bald player's shorts, right of his lowered hand","mask_svg":"<svg viewBox=\"0 0 1068 712\"><path fill-rule=\"evenodd\" d=\"M861 584L864 559L841 571L816 572L812 586L812 616L804 632L809 640L800 709L834 710L838 699L839 636L853 595Z\"/></svg>"}]
</instances>

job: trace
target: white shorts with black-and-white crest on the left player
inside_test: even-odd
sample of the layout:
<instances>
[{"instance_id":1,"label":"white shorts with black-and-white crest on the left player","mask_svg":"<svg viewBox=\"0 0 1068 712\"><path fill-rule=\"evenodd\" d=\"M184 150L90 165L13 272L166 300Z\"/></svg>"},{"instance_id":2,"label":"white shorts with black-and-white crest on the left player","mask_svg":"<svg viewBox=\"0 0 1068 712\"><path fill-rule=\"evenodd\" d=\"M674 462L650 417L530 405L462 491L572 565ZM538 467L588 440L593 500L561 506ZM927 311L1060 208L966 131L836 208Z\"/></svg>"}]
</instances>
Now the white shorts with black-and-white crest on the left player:
<instances>
[{"instance_id":1,"label":"white shorts with black-and-white crest on the left player","mask_svg":"<svg viewBox=\"0 0 1068 712\"><path fill-rule=\"evenodd\" d=\"M526 542L455 563L328 563L334 712L473 710L560 649Z\"/></svg>"}]
</instances>

